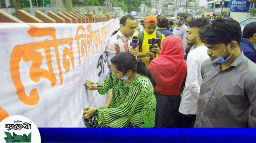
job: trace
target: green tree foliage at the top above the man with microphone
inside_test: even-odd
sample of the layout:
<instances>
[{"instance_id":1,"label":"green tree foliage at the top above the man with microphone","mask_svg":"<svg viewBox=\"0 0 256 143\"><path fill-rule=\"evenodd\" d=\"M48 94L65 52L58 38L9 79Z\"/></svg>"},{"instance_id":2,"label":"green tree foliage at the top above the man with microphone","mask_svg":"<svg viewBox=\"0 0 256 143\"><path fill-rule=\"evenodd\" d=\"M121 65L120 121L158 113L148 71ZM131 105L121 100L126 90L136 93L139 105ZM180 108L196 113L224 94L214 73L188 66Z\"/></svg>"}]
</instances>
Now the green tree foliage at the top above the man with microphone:
<instances>
[{"instance_id":1,"label":"green tree foliage at the top above the man with microphone","mask_svg":"<svg viewBox=\"0 0 256 143\"><path fill-rule=\"evenodd\" d=\"M140 6L144 3L148 7L152 7L151 0L111 0L115 7L121 7L125 12L140 12Z\"/></svg>"}]
</instances>

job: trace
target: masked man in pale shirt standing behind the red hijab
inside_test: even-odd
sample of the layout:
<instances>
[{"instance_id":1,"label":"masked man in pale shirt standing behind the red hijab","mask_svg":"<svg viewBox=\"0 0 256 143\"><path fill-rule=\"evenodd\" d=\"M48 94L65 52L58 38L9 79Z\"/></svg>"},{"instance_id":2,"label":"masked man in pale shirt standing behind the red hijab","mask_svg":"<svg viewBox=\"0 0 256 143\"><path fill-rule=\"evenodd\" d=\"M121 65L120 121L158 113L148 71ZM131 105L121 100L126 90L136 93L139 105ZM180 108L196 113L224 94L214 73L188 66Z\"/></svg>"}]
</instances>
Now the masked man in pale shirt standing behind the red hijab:
<instances>
[{"instance_id":1,"label":"masked man in pale shirt standing behind the red hijab","mask_svg":"<svg viewBox=\"0 0 256 143\"><path fill-rule=\"evenodd\" d=\"M175 24L176 26L173 28L173 35L179 36L182 38L183 47L186 51L187 47L187 39L186 39L186 28L185 20L187 16L185 13L179 13L176 17ZM186 55L186 53L184 53Z\"/></svg>"}]
</instances>

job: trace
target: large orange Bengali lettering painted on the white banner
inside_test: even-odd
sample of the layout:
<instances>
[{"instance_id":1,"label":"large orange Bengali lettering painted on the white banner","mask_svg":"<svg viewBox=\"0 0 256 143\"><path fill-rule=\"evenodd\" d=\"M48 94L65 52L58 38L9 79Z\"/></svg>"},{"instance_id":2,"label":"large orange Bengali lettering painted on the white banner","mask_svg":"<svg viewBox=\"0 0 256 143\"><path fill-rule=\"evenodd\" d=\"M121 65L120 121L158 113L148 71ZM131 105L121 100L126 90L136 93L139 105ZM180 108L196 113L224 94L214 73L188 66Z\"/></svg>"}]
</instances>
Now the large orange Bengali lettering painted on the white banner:
<instances>
[{"instance_id":1,"label":"large orange Bengali lettering painted on the white banner","mask_svg":"<svg viewBox=\"0 0 256 143\"><path fill-rule=\"evenodd\" d=\"M54 87L57 83L57 77L56 73L53 70L52 65L52 58L56 58L54 61L57 62L57 69L58 69L58 77L60 80L60 85L63 83L63 76L62 76L62 67L65 69L66 72L69 72L72 66L72 69L75 68L74 65L74 56L73 56L73 48L78 49L78 60L79 60L79 66L81 65L81 57L87 58L88 52L91 52L92 54L98 53L99 45L102 45L104 48L105 45L105 39L107 36L109 36L109 32L112 31L114 28L114 25L117 21L114 21L114 23L110 23L106 26L103 26L103 28L98 29L96 31L92 30L92 25L87 24L87 27L85 29L84 26L79 25L76 31L76 36L69 37L69 38L62 38L57 39L56 38L56 29L54 27L45 27L45 28L38 28L35 25L28 24L30 26L28 30L28 35L33 37L42 37L42 36L51 36L52 40L45 39L44 41L38 41L23 45L16 45L13 48L11 59L10 59L10 71L12 75L12 81L14 83L14 86L17 90L17 96L19 97L19 100L27 105L36 105L39 102L39 95L36 88L33 88L29 96L25 93L25 87L23 83L21 82L20 77L20 61L21 59L25 62L32 61L32 65L29 71L29 77L33 82L38 83L40 81L40 78L48 79L51 82L51 86ZM103 23L104 25L104 23ZM82 33L79 34L78 33ZM72 43L76 43L77 47L73 45ZM68 44L68 47L59 48L59 45ZM54 52L51 52L50 48L54 48ZM37 52L38 49L44 49L44 54L46 57L46 64L48 67L48 71L46 69L41 68L43 63L43 55L40 52ZM59 55L62 54L62 57ZM69 59L67 58L69 56ZM76 56L75 56L76 57ZM105 62L105 55L100 56L102 60L98 61L98 67L101 68L101 72L103 69L103 61ZM60 60L62 59L62 65ZM100 72L100 73L101 73ZM100 75L99 73L99 75Z\"/></svg>"}]
</instances>

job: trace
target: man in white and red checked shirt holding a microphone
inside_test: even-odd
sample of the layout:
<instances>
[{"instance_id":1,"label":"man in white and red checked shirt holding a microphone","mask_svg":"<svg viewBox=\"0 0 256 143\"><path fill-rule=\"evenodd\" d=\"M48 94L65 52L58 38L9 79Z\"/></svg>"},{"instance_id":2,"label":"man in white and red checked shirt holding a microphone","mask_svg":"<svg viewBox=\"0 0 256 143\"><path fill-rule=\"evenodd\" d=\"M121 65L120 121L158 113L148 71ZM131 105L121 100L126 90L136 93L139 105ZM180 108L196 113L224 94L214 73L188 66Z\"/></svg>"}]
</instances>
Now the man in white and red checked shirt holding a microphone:
<instances>
[{"instance_id":1,"label":"man in white and red checked shirt holding a microphone","mask_svg":"<svg viewBox=\"0 0 256 143\"><path fill-rule=\"evenodd\" d=\"M111 68L110 60L120 52L130 52L138 56L139 50L130 46L131 36L133 36L137 27L135 17L131 15L122 16L120 19L120 30L111 36L106 46L106 55L108 67Z\"/></svg>"}]
</instances>

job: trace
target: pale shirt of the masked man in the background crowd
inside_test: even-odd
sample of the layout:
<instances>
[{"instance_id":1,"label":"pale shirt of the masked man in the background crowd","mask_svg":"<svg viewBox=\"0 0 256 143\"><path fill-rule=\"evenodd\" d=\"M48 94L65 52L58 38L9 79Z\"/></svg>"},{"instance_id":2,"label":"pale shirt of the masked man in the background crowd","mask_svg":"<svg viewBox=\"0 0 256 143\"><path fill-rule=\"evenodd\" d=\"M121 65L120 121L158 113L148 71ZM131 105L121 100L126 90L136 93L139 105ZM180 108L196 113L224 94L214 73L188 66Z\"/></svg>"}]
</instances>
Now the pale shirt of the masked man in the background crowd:
<instances>
[{"instance_id":1,"label":"pale shirt of the masked man in the background crowd","mask_svg":"<svg viewBox=\"0 0 256 143\"><path fill-rule=\"evenodd\" d=\"M176 25L174 28L173 28L173 35L176 35L176 36L179 36L182 38L182 43L183 43L183 48L185 49L185 53L186 53L186 47L187 47L187 39L186 39L186 28L187 26L185 24L183 24L182 26L180 26L178 28L178 26Z\"/></svg>"}]
</instances>

